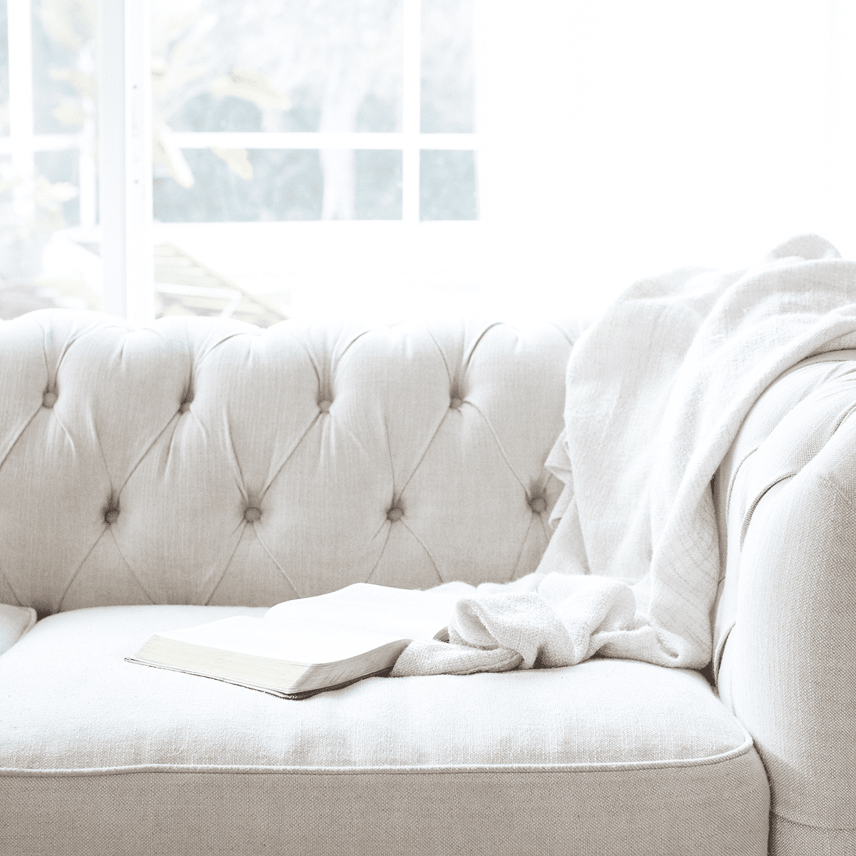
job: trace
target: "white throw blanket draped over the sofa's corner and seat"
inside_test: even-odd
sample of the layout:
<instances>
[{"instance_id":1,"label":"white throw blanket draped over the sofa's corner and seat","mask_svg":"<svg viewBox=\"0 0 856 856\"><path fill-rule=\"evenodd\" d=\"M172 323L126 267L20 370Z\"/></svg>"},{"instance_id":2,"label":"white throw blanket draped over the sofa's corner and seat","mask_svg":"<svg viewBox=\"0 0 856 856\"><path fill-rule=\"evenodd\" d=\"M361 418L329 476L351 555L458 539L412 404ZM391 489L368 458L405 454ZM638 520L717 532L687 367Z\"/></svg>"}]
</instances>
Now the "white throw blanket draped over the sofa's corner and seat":
<instances>
[{"instance_id":1,"label":"white throw blanket draped over the sofa's corner and seat","mask_svg":"<svg viewBox=\"0 0 856 856\"><path fill-rule=\"evenodd\" d=\"M547 459L565 489L538 571L437 586L461 594L449 644L411 643L392 676L568 666L597 651L703 668L719 580L710 480L764 389L839 348L856 348L856 262L817 235L746 270L635 282L568 362L565 431Z\"/></svg>"}]
</instances>

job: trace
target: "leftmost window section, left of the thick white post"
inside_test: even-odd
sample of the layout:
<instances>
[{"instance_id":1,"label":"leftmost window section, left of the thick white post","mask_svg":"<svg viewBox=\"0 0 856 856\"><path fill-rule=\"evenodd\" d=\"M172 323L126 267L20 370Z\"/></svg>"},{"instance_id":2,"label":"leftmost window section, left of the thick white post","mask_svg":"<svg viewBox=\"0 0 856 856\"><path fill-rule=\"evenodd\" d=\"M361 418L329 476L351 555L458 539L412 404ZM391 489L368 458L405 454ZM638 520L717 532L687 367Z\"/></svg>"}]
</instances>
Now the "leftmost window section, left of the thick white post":
<instances>
[{"instance_id":1,"label":"leftmost window section, left of the thick white post","mask_svg":"<svg viewBox=\"0 0 856 856\"><path fill-rule=\"evenodd\" d=\"M2 3L2 0L0 0ZM100 308L92 0L2 3L0 316ZM15 13L9 17L9 13ZM14 51L9 53L8 43ZM32 64L30 62L32 58ZM9 93L15 113L9 115ZM33 140L33 134L42 134Z\"/></svg>"}]
</instances>

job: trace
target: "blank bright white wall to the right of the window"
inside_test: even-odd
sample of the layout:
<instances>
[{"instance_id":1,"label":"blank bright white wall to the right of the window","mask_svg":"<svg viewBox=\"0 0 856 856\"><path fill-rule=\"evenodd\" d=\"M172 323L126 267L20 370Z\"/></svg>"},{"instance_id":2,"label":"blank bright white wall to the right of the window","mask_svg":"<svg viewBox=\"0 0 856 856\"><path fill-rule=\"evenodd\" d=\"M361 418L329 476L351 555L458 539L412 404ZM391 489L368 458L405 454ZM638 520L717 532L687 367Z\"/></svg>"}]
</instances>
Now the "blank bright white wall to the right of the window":
<instances>
[{"instance_id":1,"label":"blank bright white wall to the right of the window","mask_svg":"<svg viewBox=\"0 0 856 856\"><path fill-rule=\"evenodd\" d=\"M489 280L509 303L596 310L804 231L856 256L856 4L476 2Z\"/></svg>"}]
</instances>

